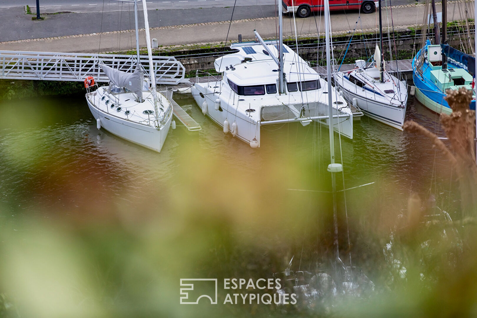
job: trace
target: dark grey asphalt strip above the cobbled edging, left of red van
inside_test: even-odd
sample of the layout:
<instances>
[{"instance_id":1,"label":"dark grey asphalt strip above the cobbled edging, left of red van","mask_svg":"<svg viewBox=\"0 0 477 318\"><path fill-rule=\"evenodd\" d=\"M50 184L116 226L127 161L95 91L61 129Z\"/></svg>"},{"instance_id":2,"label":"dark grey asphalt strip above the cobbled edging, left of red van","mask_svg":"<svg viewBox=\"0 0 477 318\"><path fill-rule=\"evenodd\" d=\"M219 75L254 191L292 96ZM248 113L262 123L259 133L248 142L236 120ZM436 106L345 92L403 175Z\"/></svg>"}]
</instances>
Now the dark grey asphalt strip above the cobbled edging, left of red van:
<instances>
[{"instance_id":1,"label":"dark grey asphalt strip above the cobbled edging, left of red van","mask_svg":"<svg viewBox=\"0 0 477 318\"><path fill-rule=\"evenodd\" d=\"M275 6L240 6L233 12L233 20L275 16ZM232 8L203 8L183 10L149 10L151 28L228 21ZM0 10L0 21L9 25L0 28L0 42L38 39L73 34L132 30L135 27L134 11L109 11L64 13L46 15L43 21L31 21L23 7ZM144 26L142 10L138 12L139 25Z\"/></svg>"}]
</instances>

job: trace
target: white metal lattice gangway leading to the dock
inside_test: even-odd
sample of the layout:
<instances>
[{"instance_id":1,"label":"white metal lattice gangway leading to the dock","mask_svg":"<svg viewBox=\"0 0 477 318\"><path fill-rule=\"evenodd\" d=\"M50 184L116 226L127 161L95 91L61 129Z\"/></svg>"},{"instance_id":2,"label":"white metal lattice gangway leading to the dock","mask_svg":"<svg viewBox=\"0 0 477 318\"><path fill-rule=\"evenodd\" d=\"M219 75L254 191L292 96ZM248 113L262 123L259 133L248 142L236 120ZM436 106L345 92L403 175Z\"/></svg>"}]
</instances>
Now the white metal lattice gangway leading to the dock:
<instances>
[{"instance_id":1,"label":"white metal lattice gangway leading to the dock","mask_svg":"<svg viewBox=\"0 0 477 318\"><path fill-rule=\"evenodd\" d=\"M135 55L85 54L31 51L0 51L0 78L42 81L83 81L93 76L97 82L109 82L98 62L124 72L134 72ZM141 67L149 74L147 55L140 56ZM153 56L158 84L184 81L186 69L173 56Z\"/></svg>"}]
</instances>

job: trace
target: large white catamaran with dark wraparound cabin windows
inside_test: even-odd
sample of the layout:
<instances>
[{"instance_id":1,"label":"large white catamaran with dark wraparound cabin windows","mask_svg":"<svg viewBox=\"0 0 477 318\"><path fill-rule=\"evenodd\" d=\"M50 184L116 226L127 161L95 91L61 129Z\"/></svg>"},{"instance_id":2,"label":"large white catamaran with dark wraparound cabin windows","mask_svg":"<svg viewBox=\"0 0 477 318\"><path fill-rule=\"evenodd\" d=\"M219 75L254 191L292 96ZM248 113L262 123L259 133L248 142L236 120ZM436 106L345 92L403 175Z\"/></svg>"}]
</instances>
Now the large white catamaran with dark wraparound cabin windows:
<instances>
[{"instance_id":1,"label":"large white catamaran with dark wraparound cabin windows","mask_svg":"<svg viewBox=\"0 0 477 318\"><path fill-rule=\"evenodd\" d=\"M279 41L234 43L237 52L215 60L221 79L200 82L191 92L202 112L231 133L260 146L260 127L268 124L317 121L328 125L328 96L332 96L333 129L353 138L351 107L307 62L283 44L279 8Z\"/></svg>"}]
</instances>

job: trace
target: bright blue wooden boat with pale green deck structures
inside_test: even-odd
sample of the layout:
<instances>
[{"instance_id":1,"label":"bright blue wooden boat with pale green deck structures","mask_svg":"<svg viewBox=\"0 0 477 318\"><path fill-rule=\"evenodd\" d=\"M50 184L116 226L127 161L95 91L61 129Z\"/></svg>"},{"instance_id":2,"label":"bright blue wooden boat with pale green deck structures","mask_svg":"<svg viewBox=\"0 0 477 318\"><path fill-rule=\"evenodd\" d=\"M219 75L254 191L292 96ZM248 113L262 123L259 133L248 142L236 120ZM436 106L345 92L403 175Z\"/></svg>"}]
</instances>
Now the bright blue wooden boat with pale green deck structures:
<instances>
[{"instance_id":1,"label":"bright blue wooden boat with pale green deck structures","mask_svg":"<svg viewBox=\"0 0 477 318\"><path fill-rule=\"evenodd\" d=\"M444 100L446 90L456 90L465 87L473 89L475 78L475 58L463 53L448 44L441 44L437 31L436 7L432 0L434 13L435 43L427 39L424 47L415 55L413 67L413 80L415 96L419 102L436 113L452 113L449 104ZM446 1L443 1L443 28L442 38L446 42ZM472 74L472 75L471 75ZM476 109L475 95L469 105Z\"/></svg>"}]
</instances>

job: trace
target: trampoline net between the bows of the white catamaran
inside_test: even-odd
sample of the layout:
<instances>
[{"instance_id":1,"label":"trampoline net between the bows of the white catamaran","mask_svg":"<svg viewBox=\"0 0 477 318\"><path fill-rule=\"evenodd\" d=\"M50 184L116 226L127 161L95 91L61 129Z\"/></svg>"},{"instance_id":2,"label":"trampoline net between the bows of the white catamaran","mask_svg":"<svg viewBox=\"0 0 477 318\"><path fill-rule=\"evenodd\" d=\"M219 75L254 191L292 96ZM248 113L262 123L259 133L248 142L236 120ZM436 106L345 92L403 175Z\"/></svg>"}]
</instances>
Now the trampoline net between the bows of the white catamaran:
<instances>
[{"instance_id":1,"label":"trampoline net between the bows of the white catamaran","mask_svg":"<svg viewBox=\"0 0 477 318\"><path fill-rule=\"evenodd\" d=\"M341 106L341 105L338 105ZM333 108L333 115L344 114ZM296 103L290 105L271 105L260 108L260 120L272 121L282 119L313 118L328 116L328 105L320 102Z\"/></svg>"}]
</instances>

